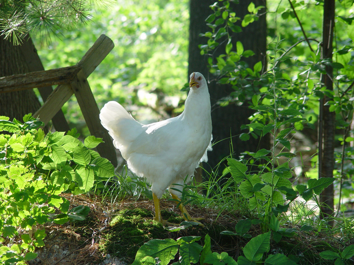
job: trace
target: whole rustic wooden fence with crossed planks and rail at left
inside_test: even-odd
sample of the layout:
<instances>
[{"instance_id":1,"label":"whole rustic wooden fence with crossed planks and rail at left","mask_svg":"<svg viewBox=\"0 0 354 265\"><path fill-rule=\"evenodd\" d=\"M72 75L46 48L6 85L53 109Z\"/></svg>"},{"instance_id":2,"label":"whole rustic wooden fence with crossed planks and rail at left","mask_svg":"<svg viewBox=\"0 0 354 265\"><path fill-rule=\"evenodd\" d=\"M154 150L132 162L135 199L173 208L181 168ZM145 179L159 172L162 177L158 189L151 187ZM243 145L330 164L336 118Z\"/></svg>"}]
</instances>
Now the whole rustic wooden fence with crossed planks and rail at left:
<instances>
[{"instance_id":1,"label":"whole rustic wooden fence with crossed planks and rail at left","mask_svg":"<svg viewBox=\"0 0 354 265\"><path fill-rule=\"evenodd\" d=\"M89 82L87 82L87 77L106 58L113 47L113 41L109 37L101 35L75 66L2 77L0 78L0 93L58 85L33 115L45 124L75 94L91 135L103 138L104 143L100 143L96 147L97 151L116 167L115 148L108 131L101 125L100 110Z\"/></svg>"}]
</instances>

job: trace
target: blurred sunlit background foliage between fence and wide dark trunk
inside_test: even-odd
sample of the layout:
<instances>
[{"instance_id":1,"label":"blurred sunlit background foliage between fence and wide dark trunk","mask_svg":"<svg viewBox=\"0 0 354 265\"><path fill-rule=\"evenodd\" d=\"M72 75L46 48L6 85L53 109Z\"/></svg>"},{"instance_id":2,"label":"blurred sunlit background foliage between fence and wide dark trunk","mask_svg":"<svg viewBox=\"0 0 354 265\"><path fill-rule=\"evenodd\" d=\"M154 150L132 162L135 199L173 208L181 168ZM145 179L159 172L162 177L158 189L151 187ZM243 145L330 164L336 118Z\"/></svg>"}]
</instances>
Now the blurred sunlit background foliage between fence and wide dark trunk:
<instances>
[{"instance_id":1,"label":"blurred sunlit background foliage between fence and wide dark trunk","mask_svg":"<svg viewBox=\"0 0 354 265\"><path fill-rule=\"evenodd\" d=\"M87 25L63 32L43 46L34 39L45 69L75 65L100 34L115 47L88 80L101 109L109 100L121 103L140 121L170 118L186 97L188 1L128 1L112 3L94 13ZM58 53L60 51L60 55ZM166 113L166 110L167 112ZM64 105L69 123L89 135L75 97Z\"/></svg>"}]
</instances>

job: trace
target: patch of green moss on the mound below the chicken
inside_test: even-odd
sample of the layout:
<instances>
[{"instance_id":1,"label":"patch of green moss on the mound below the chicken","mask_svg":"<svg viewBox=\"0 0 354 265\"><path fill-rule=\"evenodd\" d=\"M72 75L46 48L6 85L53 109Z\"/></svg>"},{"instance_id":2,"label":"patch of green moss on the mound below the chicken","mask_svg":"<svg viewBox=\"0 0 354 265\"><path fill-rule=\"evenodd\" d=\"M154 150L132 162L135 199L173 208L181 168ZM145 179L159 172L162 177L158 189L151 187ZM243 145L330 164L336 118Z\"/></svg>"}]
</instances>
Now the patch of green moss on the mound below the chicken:
<instances>
[{"instance_id":1,"label":"patch of green moss on the mound below the chicken","mask_svg":"<svg viewBox=\"0 0 354 265\"><path fill-rule=\"evenodd\" d=\"M124 209L110 223L110 230L103 237L101 250L118 257L134 260L138 249L153 238L166 238L166 230L152 219L146 209Z\"/></svg>"}]
</instances>

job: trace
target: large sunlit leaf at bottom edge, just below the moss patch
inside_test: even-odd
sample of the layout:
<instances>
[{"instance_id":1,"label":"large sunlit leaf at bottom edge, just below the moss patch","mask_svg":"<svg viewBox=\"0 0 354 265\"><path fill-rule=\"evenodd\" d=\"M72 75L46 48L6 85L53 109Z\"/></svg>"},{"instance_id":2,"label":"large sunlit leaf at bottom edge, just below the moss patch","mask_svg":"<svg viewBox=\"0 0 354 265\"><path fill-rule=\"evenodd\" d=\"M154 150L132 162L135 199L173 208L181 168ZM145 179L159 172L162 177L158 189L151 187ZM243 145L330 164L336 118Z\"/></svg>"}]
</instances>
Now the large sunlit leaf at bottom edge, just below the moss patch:
<instances>
[{"instance_id":1,"label":"large sunlit leaf at bottom edge, just below the moss patch","mask_svg":"<svg viewBox=\"0 0 354 265\"><path fill-rule=\"evenodd\" d=\"M161 260L160 265L167 265L169 261L174 258L178 249L179 244L173 239L152 239L138 250L132 264L140 264L140 260L144 257L151 256L153 258L159 257Z\"/></svg>"}]
</instances>

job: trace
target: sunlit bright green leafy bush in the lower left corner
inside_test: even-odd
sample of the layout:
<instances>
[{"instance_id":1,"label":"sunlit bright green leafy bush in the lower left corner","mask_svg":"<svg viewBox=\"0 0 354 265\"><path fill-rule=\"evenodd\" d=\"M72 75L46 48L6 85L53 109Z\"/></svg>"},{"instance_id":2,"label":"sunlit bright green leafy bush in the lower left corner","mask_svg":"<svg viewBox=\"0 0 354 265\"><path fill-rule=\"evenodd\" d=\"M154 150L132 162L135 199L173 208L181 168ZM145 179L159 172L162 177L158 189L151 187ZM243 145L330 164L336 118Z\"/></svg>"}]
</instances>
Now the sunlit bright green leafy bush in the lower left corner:
<instances>
[{"instance_id":1,"label":"sunlit bright green leafy bush in the lower left corner","mask_svg":"<svg viewBox=\"0 0 354 265\"><path fill-rule=\"evenodd\" d=\"M67 135L45 135L38 128L43 123L31 114L23 121L0 117L0 131L11 133L0 135L0 259L5 264L24 264L36 257L34 248L44 246L46 231L35 226L83 220L89 214L87 206L69 209L61 193L90 191L95 179L114 174L106 158L88 148L101 139L90 137L82 143L74 129Z\"/></svg>"}]
</instances>

